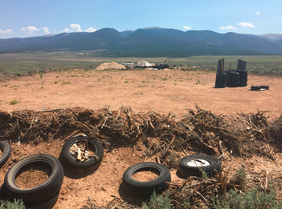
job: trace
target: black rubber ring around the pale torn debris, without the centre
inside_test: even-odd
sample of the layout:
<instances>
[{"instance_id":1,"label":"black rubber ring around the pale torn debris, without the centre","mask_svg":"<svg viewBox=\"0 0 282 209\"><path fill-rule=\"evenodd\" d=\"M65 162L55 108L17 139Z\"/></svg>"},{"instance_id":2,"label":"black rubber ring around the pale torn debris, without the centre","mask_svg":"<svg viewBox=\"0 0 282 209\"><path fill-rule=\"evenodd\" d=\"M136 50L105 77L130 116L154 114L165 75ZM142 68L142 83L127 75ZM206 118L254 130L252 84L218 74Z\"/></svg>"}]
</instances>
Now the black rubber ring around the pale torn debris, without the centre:
<instances>
[{"instance_id":1,"label":"black rubber ring around the pale torn debris, without the centre","mask_svg":"<svg viewBox=\"0 0 282 209\"><path fill-rule=\"evenodd\" d=\"M87 143L91 143L92 145L95 146L96 149L96 155L97 159L92 157L88 160L85 160L83 162L76 160L70 153L70 148L71 146L78 142L78 141L84 141L86 140ZM62 147L62 152L61 152L61 161L62 164L68 168L69 170L73 172L84 172L84 171L89 171L89 170L95 170L99 167L99 165L102 162L104 155L104 149L102 144L95 140L94 138L87 137L87 136L77 136L77 137L71 137L69 138L65 144Z\"/></svg>"}]
</instances>

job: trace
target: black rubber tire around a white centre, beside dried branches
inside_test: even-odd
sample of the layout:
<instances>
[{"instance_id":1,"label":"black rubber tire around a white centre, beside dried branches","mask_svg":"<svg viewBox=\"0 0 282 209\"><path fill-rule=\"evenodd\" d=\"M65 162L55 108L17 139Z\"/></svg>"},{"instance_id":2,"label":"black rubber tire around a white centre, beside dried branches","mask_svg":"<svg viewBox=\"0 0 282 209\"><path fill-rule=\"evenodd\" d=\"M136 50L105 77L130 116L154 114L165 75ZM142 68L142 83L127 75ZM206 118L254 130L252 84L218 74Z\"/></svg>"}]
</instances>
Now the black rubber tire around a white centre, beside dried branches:
<instances>
[{"instance_id":1,"label":"black rubber tire around a white centre, beside dried branches","mask_svg":"<svg viewBox=\"0 0 282 209\"><path fill-rule=\"evenodd\" d=\"M202 167L202 169L205 169L208 175L214 176L216 175L216 171L220 173L221 164L217 158L210 155L196 154L196 155L186 156L179 161L179 171L183 177L189 177L189 176L202 177L202 171L199 167L188 165L188 162L195 159L196 160L203 159L209 162L210 165Z\"/></svg>"}]
</instances>

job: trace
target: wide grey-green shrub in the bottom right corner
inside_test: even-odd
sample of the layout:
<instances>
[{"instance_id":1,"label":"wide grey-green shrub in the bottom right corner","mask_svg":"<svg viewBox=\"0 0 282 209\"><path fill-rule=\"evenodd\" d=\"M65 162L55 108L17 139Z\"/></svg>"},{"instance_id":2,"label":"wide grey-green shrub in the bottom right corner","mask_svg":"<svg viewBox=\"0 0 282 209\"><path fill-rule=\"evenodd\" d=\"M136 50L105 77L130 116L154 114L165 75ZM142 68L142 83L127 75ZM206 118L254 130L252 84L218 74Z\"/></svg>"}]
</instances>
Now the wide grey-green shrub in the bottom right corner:
<instances>
[{"instance_id":1,"label":"wide grey-green shrub in the bottom right corner","mask_svg":"<svg viewBox=\"0 0 282 209\"><path fill-rule=\"evenodd\" d=\"M213 197L212 201L215 209L280 209L282 202L278 204L276 195L272 188L268 193L265 190L258 192L258 188L254 187L242 194L231 189L225 200L215 203Z\"/></svg>"}]
</instances>

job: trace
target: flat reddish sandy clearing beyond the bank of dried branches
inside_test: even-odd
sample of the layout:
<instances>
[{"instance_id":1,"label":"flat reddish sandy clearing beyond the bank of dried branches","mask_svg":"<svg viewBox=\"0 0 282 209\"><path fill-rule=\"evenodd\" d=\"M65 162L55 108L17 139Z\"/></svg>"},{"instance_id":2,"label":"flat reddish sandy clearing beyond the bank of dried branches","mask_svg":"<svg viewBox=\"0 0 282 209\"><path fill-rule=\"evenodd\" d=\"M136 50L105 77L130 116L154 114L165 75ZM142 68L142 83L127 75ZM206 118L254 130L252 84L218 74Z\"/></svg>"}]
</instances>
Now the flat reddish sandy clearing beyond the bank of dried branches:
<instances>
[{"instance_id":1,"label":"flat reddish sandy clearing beyond the bank of dried branches","mask_svg":"<svg viewBox=\"0 0 282 209\"><path fill-rule=\"evenodd\" d=\"M211 72L206 74L175 69L93 70L82 73L84 72L54 72L43 74L42 78L35 75L1 83L0 110L41 110L44 106L98 109L109 105L113 106L114 111L123 104L137 112L155 110L168 114L173 111L175 115L182 117L188 109L195 109L197 103L201 108L216 114L236 114L236 111L249 113L260 109L277 117L282 109L280 78L249 75L247 87L220 89L214 88L216 73ZM165 78L167 80L162 80ZM58 83L55 84L55 81ZM251 85L269 85L270 90L248 91ZM11 100L20 102L10 105Z\"/></svg>"}]
</instances>

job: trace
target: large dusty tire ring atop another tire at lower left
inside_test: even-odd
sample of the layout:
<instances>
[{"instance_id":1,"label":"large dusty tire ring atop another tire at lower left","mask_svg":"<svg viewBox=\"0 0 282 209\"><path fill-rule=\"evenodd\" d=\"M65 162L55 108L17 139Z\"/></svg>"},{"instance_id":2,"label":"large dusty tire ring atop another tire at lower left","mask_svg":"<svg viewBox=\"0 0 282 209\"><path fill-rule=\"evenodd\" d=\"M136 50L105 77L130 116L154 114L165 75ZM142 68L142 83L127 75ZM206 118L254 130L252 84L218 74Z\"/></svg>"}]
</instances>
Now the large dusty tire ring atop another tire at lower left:
<instances>
[{"instance_id":1,"label":"large dusty tire ring atop another tire at lower left","mask_svg":"<svg viewBox=\"0 0 282 209\"><path fill-rule=\"evenodd\" d=\"M27 165L32 163L45 164L52 168L50 177L42 184L32 188L20 188L16 185L15 179L17 174ZM61 162L51 156L45 154L30 155L17 161L7 172L4 179L4 187L9 198L22 199L25 204L36 201L45 201L59 192L64 179L64 170Z\"/></svg>"}]
</instances>

